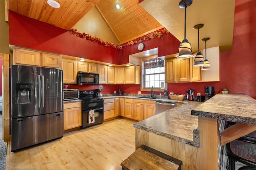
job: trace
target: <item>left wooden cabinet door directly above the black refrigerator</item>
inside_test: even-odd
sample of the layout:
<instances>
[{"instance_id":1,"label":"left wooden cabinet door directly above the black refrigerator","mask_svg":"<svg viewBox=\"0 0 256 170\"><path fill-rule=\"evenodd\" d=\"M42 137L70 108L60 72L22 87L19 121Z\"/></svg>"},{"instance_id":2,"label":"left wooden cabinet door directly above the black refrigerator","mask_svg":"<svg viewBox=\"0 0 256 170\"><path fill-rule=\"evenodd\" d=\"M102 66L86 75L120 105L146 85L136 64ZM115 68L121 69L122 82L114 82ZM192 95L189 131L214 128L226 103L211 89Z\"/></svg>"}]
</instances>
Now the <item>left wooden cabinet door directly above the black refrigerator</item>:
<instances>
[{"instance_id":1,"label":"left wooden cabinet door directly above the black refrigerator","mask_svg":"<svg viewBox=\"0 0 256 170\"><path fill-rule=\"evenodd\" d=\"M13 49L13 64L40 66L40 52L27 49Z\"/></svg>"}]
</instances>

